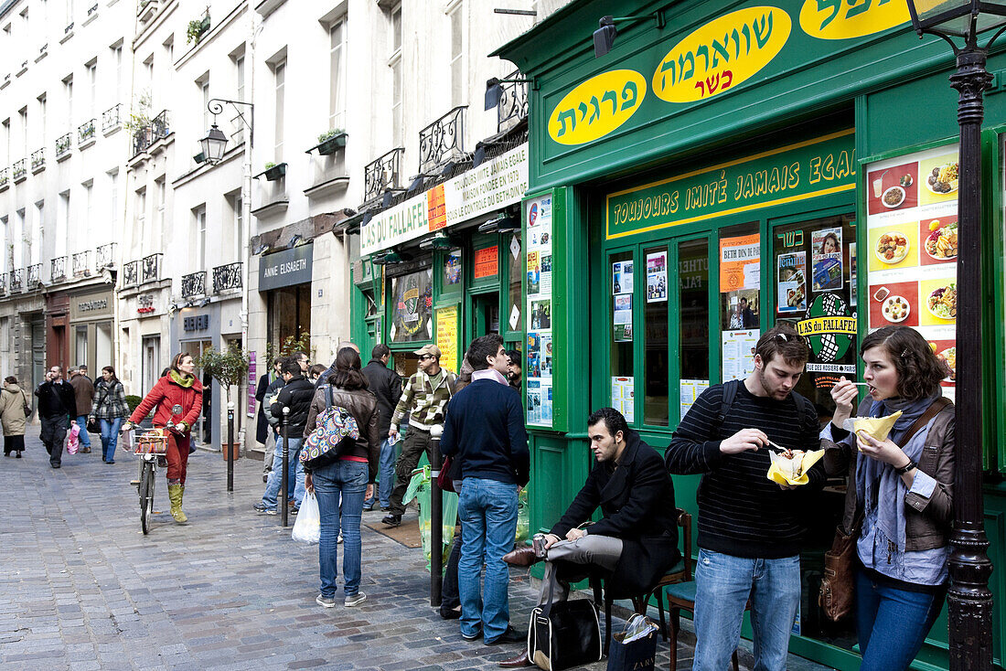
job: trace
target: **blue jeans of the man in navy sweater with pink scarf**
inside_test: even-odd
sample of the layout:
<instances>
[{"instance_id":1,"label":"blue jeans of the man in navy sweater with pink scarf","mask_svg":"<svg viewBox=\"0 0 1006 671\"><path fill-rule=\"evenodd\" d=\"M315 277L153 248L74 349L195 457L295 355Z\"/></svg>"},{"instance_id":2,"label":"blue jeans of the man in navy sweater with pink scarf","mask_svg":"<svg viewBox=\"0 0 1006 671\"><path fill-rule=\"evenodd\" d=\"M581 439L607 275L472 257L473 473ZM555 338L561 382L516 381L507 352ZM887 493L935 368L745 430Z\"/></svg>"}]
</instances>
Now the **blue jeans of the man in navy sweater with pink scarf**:
<instances>
[{"instance_id":1,"label":"blue jeans of the man in navy sweater with pink scarf","mask_svg":"<svg viewBox=\"0 0 1006 671\"><path fill-rule=\"evenodd\" d=\"M465 478L458 513L462 528L458 561L461 633L477 636L481 627L483 640L489 643L502 636L510 625L507 595L510 573L503 555L513 549L517 533L517 486L498 480ZM486 580L485 590L480 593L483 563Z\"/></svg>"}]
</instances>

